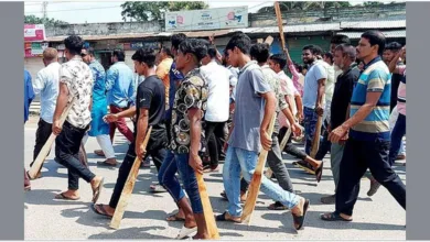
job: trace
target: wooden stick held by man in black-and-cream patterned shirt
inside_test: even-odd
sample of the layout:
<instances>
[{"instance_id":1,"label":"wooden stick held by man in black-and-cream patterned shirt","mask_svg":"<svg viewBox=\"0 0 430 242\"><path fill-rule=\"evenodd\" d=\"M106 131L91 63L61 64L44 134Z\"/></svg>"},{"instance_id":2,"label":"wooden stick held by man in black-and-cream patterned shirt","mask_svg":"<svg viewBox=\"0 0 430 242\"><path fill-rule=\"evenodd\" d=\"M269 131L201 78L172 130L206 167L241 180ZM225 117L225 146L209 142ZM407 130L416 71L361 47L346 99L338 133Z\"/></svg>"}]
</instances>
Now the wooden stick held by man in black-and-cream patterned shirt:
<instances>
[{"instance_id":1,"label":"wooden stick held by man in black-and-cream patterned shirt","mask_svg":"<svg viewBox=\"0 0 430 242\"><path fill-rule=\"evenodd\" d=\"M219 239L218 227L216 227L214 211L212 210L209 195L207 194L206 185L203 180L203 175L195 173L195 177L197 179L198 194L200 199L202 200L203 215L206 221L207 233L209 234L211 239L217 240Z\"/></svg>"}]
</instances>

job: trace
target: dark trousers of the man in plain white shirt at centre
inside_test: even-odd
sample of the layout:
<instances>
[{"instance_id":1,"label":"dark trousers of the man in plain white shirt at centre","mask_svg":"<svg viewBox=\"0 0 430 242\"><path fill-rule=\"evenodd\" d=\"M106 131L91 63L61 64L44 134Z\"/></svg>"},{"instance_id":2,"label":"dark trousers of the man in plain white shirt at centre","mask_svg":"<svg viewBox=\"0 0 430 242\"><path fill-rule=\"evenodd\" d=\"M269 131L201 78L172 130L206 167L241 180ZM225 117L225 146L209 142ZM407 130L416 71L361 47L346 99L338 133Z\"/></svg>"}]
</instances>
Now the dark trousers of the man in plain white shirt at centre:
<instances>
[{"instance_id":1,"label":"dark trousers of the man in plain white shirt at centre","mask_svg":"<svg viewBox=\"0 0 430 242\"><path fill-rule=\"evenodd\" d=\"M205 138L207 142L207 150L211 157L211 166L217 166L219 153L223 150L224 125L226 122L209 122L205 121Z\"/></svg>"}]
</instances>

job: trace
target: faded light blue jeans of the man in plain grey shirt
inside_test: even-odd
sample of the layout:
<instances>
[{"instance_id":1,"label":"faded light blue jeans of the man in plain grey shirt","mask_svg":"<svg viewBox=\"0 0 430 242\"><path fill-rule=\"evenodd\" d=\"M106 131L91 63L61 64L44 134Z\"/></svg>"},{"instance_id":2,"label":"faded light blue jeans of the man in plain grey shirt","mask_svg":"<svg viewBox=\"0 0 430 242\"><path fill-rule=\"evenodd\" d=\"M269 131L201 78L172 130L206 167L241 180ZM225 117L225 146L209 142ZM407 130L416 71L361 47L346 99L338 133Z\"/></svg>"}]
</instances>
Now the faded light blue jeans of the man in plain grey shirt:
<instances>
[{"instance_id":1,"label":"faded light blue jeans of the man in plain grey shirt","mask_svg":"<svg viewBox=\"0 0 430 242\"><path fill-rule=\"evenodd\" d=\"M257 166L258 154L238 147L228 146L223 167L224 188L228 198L227 212L234 217L241 216L240 206L240 172L247 183L250 183ZM261 176L260 190L275 201L280 201L289 209L299 204L300 197L283 190L278 184Z\"/></svg>"}]
</instances>

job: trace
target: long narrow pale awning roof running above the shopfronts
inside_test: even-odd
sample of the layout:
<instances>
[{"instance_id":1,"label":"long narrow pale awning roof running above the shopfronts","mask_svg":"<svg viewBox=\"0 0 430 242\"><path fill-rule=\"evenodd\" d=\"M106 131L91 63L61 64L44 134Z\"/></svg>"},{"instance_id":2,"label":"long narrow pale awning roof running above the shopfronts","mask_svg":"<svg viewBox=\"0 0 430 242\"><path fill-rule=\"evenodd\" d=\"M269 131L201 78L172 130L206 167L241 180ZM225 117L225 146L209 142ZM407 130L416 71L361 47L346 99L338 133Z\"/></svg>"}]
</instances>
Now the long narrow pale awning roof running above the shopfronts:
<instances>
[{"instance_id":1,"label":"long narrow pale awning roof running above the shopfronts","mask_svg":"<svg viewBox=\"0 0 430 242\"><path fill-rule=\"evenodd\" d=\"M284 33L307 33L307 32L324 32L324 31L342 31L347 29L405 29L406 20L385 20L385 21L347 21L334 23L312 23L312 24L294 24L283 25ZM279 33L278 26L266 28L246 28L246 29L228 29L216 31L192 31L182 32L189 37L207 37L211 35L224 36L230 33L241 31L247 34L257 33ZM404 31L405 32L405 31ZM173 32L160 33L130 33L130 34L109 34L109 35L82 35L85 41L103 41L103 40L126 40L126 38L146 38L146 37L169 37ZM406 36L406 35L405 35ZM46 37L47 42L62 42L67 36Z\"/></svg>"}]
</instances>

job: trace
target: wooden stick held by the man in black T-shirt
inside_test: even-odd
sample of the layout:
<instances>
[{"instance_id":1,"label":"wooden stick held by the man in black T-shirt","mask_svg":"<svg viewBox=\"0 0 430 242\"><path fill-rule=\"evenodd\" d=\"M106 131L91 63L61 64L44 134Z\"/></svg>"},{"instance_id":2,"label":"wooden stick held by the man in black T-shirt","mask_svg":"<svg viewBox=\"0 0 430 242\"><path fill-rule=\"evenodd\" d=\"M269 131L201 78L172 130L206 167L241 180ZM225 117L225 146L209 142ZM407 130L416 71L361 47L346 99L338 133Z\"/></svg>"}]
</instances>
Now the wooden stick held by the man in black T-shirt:
<instances>
[{"instance_id":1,"label":"wooden stick held by the man in black T-shirt","mask_svg":"<svg viewBox=\"0 0 430 242\"><path fill-rule=\"evenodd\" d=\"M150 127L147 131L147 135L143 140L143 147L146 148L148 145L149 136L151 135L152 127ZM130 173L128 174L126 185L122 188L121 197L119 198L118 206L115 209L115 213L112 217L112 220L110 221L110 228L118 229L119 224L121 223L123 212L126 211L126 207L128 205L128 200L131 196L131 193L135 188L136 177L139 174L140 164L142 163L141 157L136 157L133 166L130 169Z\"/></svg>"}]
</instances>

